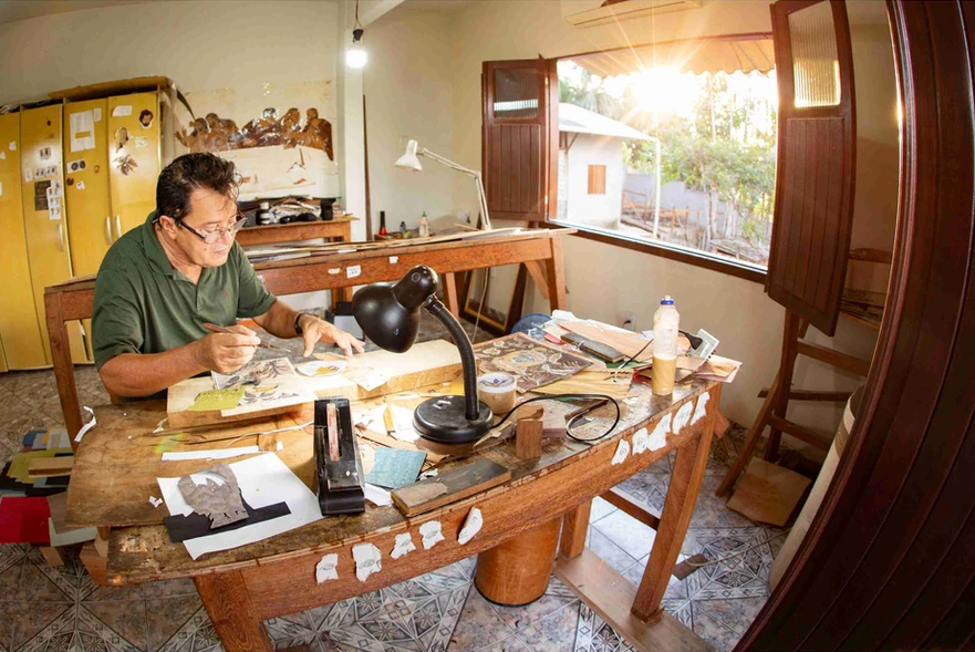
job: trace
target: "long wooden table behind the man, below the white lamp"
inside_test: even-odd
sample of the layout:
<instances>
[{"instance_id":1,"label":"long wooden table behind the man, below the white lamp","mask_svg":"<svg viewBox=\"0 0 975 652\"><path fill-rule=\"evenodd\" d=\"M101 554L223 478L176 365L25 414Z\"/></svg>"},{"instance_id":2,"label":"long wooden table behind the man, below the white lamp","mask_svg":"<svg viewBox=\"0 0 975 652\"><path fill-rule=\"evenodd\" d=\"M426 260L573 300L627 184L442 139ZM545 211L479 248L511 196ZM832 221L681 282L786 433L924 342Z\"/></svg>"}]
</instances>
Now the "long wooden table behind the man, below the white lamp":
<instances>
[{"instance_id":1,"label":"long wooden table behind the man, below the white lamp","mask_svg":"<svg viewBox=\"0 0 975 652\"><path fill-rule=\"evenodd\" d=\"M265 286L277 296L338 290L376 281L398 280L416 265L427 265L440 275L447 307L459 318L456 272L538 261L544 265L552 310L566 308L566 279L562 268L561 236L574 229L533 229L497 236L479 234L476 239L425 244L423 241L369 244L353 253L318 253L309 258L258 262L255 269ZM354 244L350 244L350 247ZM82 279L44 289L44 308L51 358L64 424L74 438L84 423L77 401L74 364L66 322L89 319L95 296L95 281Z\"/></svg>"}]
</instances>

